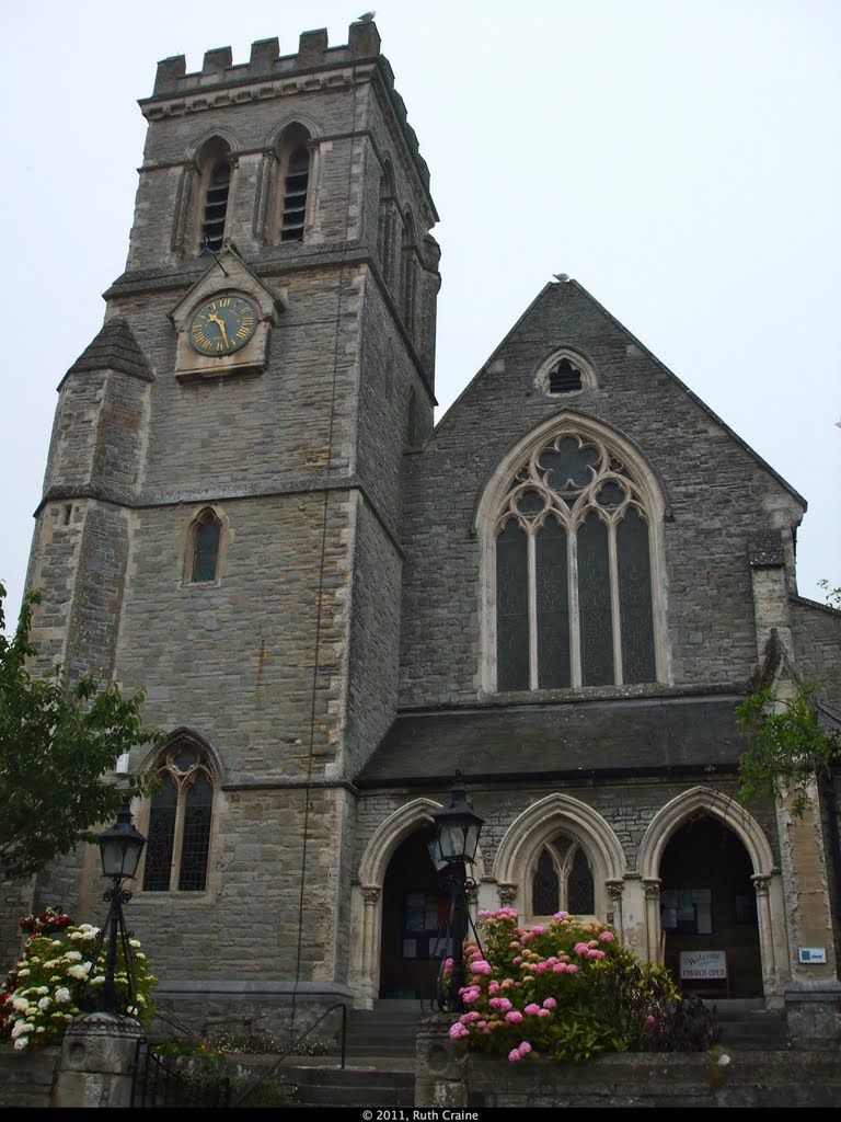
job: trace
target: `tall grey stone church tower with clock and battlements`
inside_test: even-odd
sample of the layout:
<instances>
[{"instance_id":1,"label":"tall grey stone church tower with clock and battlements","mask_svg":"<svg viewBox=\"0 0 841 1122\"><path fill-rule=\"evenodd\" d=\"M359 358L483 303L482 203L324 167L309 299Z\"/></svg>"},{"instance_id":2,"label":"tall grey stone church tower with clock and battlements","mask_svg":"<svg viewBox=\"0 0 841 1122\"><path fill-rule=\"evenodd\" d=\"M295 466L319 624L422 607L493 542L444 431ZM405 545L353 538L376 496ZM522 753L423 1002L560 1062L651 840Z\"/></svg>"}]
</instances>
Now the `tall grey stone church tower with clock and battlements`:
<instances>
[{"instance_id":1,"label":"tall grey stone church tower with clock and battlements","mask_svg":"<svg viewBox=\"0 0 841 1122\"><path fill-rule=\"evenodd\" d=\"M173 732L131 761L165 779L132 921L166 978L227 945L240 986L332 985L351 781L397 703L403 456L433 423L428 171L372 24L168 58L141 109L127 269L59 387L39 654L146 687Z\"/></svg>"}]
</instances>

